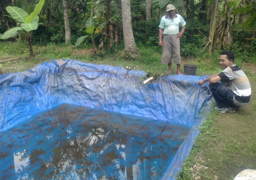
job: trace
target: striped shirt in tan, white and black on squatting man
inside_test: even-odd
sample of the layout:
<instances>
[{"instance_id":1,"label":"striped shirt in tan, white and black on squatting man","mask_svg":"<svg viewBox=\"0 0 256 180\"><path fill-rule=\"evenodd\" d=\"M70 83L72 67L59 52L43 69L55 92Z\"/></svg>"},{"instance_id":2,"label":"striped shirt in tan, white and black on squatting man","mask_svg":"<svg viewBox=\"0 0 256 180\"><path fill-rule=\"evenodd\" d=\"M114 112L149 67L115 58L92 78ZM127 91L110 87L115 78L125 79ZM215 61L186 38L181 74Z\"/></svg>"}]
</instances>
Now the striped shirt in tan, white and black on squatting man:
<instances>
[{"instance_id":1,"label":"striped shirt in tan, white and black on squatting man","mask_svg":"<svg viewBox=\"0 0 256 180\"><path fill-rule=\"evenodd\" d=\"M228 89L235 94L234 103L238 106L246 106L251 98L251 86L247 76L237 65L228 66L218 74Z\"/></svg>"}]
</instances>

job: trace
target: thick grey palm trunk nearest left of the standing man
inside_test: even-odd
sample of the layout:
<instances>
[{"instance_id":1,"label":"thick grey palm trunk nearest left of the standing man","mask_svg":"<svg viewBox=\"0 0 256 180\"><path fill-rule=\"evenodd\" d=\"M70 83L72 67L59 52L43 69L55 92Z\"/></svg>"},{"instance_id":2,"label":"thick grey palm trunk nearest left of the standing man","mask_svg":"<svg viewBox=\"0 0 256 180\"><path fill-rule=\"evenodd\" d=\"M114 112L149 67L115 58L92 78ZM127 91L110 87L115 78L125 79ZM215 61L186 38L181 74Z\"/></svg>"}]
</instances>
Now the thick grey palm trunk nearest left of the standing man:
<instances>
[{"instance_id":1,"label":"thick grey palm trunk nearest left of the standing man","mask_svg":"<svg viewBox=\"0 0 256 180\"><path fill-rule=\"evenodd\" d=\"M137 60L140 52L136 47L131 27L131 1L121 0L123 33L125 41L125 60Z\"/></svg>"}]
</instances>

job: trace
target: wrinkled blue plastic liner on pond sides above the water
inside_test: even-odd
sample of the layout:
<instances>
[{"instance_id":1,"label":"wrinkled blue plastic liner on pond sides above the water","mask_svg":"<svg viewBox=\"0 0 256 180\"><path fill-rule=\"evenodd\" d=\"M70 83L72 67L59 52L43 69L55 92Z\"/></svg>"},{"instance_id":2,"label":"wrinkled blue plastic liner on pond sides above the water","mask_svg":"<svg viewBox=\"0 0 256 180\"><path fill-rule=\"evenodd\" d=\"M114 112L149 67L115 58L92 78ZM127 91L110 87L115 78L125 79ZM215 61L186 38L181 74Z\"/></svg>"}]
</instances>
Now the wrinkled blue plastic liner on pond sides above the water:
<instances>
[{"instance_id":1,"label":"wrinkled blue plastic liner on pond sides above the water","mask_svg":"<svg viewBox=\"0 0 256 180\"><path fill-rule=\"evenodd\" d=\"M1 75L0 131L5 133L64 103L179 123L191 130L162 178L175 179L199 133L197 128L211 110L212 96L207 83L197 86L206 77L169 75L142 86L144 74L67 59Z\"/></svg>"}]
</instances>

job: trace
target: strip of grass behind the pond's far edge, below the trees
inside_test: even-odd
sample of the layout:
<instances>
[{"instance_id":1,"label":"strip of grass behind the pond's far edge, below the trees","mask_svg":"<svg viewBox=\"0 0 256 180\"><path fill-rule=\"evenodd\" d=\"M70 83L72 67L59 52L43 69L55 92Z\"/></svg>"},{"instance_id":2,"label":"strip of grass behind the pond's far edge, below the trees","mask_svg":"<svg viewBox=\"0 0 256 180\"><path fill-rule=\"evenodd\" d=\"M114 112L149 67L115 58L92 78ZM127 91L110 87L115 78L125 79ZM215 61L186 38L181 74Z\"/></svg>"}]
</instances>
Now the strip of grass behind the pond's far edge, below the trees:
<instances>
[{"instance_id":1,"label":"strip of grass behind the pond's far edge, below the trees","mask_svg":"<svg viewBox=\"0 0 256 180\"><path fill-rule=\"evenodd\" d=\"M33 52L35 58L32 60L23 60L15 65L22 66L23 68L15 69L16 71L24 71L28 68L34 67L35 65L43 62L49 62L50 59L77 59L86 63L94 64L105 64L112 66L126 67L130 66L133 69L139 69L148 72L149 74L155 74L155 77L159 77L161 74L166 73L168 70L167 65L161 64L161 48L160 47L146 47L140 45L139 50L141 52L140 60L127 62L125 61L125 52L121 49L123 46L120 45L119 48L107 51L97 51L98 56L92 56L90 49L75 49L73 46L66 45L55 45L49 43L47 46L40 46L37 44L33 45ZM0 56L29 56L29 48L27 44L23 42L0 42ZM186 58L185 58L186 59ZM198 60L197 60L198 59ZM198 65L197 75L209 75L215 74L221 71L218 63L214 66L208 66L208 61L202 58L190 58L187 63L193 63ZM183 58L184 60L184 58ZM182 60L182 61L183 61ZM218 59L215 60L218 62ZM214 62L215 63L215 62ZM8 67L8 64L3 64L4 67ZM15 72L7 71L7 72ZM181 66L182 72L184 72L183 66ZM172 64L172 73L176 74L177 66Z\"/></svg>"}]
</instances>

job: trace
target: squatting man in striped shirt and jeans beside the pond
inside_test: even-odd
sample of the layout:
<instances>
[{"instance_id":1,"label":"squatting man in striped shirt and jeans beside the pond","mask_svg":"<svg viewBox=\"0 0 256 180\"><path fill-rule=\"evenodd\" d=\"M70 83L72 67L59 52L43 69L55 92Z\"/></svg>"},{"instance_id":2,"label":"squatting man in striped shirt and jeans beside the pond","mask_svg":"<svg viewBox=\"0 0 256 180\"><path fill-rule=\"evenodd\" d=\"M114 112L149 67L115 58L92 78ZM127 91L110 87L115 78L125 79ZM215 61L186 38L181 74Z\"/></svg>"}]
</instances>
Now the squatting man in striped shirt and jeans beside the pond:
<instances>
[{"instance_id":1,"label":"squatting man in striped shirt and jeans beside the pond","mask_svg":"<svg viewBox=\"0 0 256 180\"><path fill-rule=\"evenodd\" d=\"M236 108L247 106L251 98L251 86L242 69L234 64L232 51L220 53L220 65L223 71L199 81L202 85L209 81L209 88L218 105L219 113L234 113Z\"/></svg>"}]
</instances>

